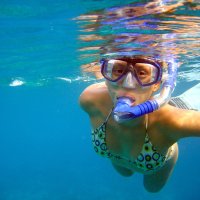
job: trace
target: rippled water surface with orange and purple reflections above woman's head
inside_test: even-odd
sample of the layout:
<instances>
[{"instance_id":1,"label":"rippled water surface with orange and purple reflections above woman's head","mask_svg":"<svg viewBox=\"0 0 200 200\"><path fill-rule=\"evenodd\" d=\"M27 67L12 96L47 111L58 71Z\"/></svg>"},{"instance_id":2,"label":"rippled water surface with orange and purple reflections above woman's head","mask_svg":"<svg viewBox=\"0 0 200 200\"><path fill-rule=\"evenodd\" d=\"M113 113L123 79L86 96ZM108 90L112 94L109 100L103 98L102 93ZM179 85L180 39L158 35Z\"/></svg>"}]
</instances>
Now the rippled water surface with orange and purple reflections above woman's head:
<instances>
[{"instance_id":1,"label":"rippled water surface with orange and purple reflections above woman's head","mask_svg":"<svg viewBox=\"0 0 200 200\"><path fill-rule=\"evenodd\" d=\"M184 70L192 68L194 61L200 61L199 11L197 1L154 0L92 10L76 17L83 71L100 77L96 64L100 57L141 54L164 61L173 56L184 64ZM193 71L181 71L180 77L192 76Z\"/></svg>"}]
</instances>

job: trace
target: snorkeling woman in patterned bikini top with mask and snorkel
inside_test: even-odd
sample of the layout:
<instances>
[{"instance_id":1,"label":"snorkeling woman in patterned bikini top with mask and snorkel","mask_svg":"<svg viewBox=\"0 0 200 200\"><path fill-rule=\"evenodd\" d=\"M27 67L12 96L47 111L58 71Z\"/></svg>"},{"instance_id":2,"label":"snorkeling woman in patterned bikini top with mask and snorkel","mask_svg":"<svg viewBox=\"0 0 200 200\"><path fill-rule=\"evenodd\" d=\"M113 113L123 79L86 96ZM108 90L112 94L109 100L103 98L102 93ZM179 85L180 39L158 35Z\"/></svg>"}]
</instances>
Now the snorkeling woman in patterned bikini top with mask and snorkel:
<instances>
[{"instance_id":1,"label":"snorkeling woman in patterned bikini top with mask and snorkel","mask_svg":"<svg viewBox=\"0 0 200 200\"><path fill-rule=\"evenodd\" d=\"M101 60L105 82L87 87L80 105L89 115L94 150L123 176L144 174L144 187L158 192L172 174L177 142L200 136L200 112L168 102L177 64L144 56ZM155 95L156 93L159 93Z\"/></svg>"}]
</instances>

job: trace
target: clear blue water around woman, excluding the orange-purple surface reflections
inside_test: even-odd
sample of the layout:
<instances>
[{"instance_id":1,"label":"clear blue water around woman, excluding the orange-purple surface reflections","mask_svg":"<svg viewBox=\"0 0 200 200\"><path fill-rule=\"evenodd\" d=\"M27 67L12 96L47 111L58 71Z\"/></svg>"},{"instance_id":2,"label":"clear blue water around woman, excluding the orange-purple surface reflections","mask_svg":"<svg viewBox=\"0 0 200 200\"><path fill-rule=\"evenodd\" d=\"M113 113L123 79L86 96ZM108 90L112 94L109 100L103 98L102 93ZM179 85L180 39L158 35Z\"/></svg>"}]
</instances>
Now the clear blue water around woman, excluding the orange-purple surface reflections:
<instances>
[{"instance_id":1,"label":"clear blue water around woman, excluding the orange-purple surface reflections","mask_svg":"<svg viewBox=\"0 0 200 200\"><path fill-rule=\"evenodd\" d=\"M80 68L79 49L88 44L74 18L130 2L0 2L0 200L200 199L198 138L179 142L174 173L157 194L144 190L140 174L118 175L92 148L78 97L95 79ZM193 39L198 44L199 35ZM192 47L178 53L186 64L174 95L199 82L199 47Z\"/></svg>"}]
</instances>

